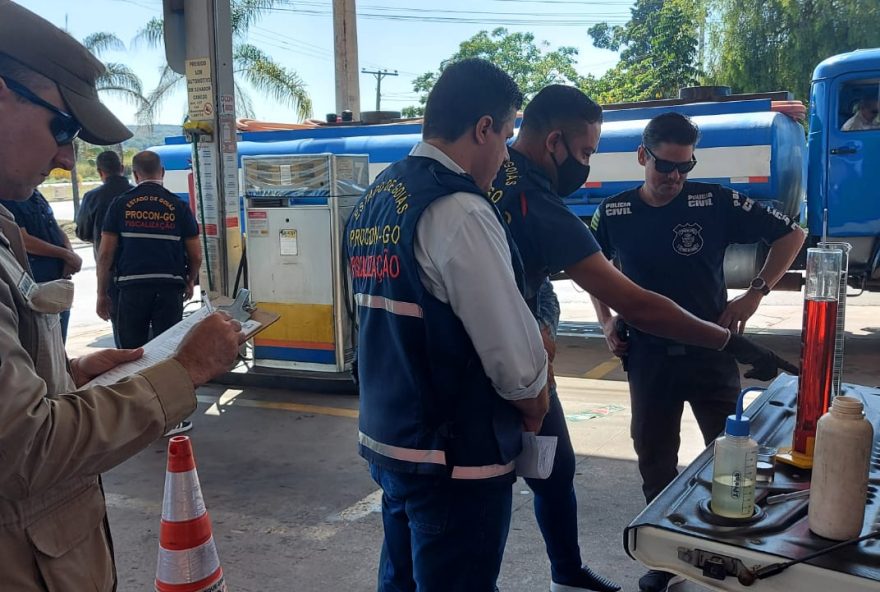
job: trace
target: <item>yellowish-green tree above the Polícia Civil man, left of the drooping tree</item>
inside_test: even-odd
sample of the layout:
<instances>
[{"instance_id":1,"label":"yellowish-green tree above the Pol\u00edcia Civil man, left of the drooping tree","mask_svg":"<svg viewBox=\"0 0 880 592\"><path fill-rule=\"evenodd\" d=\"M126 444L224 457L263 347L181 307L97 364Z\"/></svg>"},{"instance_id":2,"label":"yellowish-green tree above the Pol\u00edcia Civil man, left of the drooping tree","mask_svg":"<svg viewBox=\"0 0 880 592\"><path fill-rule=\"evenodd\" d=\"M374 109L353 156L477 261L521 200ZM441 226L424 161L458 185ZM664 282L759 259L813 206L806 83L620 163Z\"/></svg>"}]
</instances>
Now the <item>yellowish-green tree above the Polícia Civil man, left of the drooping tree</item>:
<instances>
[{"instance_id":1,"label":"yellowish-green tree above the Pol\u00edcia Civil man, left of the drooping tree","mask_svg":"<svg viewBox=\"0 0 880 592\"><path fill-rule=\"evenodd\" d=\"M593 45L620 52L620 61L581 88L601 103L643 101L678 96L678 89L695 84L702 25L703 0L637 0L623 26L599 23L589 29Z\"/></svg>"}]
</instances>

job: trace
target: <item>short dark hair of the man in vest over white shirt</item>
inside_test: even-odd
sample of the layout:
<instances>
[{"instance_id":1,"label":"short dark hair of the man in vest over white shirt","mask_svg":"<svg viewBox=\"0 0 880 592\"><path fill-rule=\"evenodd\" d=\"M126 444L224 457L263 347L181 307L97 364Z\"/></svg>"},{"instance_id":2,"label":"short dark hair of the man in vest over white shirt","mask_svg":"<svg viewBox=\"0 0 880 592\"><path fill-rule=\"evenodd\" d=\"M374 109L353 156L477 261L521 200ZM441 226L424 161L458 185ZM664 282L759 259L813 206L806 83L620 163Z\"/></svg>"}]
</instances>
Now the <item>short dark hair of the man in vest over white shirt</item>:
<instances>
[{"instance_id":1,"label":"short dark hair of the man in vest over white shirt","mask_svg":"<svg viewBox=\"0 0 880 592\"><path fill-rule=\"evenodd\" d=\"M476 58L453 62L428 95L422 137L454 142L486 115L500 132L522 100L516 82L498 66Z\"/></svg>"}]
</instances>

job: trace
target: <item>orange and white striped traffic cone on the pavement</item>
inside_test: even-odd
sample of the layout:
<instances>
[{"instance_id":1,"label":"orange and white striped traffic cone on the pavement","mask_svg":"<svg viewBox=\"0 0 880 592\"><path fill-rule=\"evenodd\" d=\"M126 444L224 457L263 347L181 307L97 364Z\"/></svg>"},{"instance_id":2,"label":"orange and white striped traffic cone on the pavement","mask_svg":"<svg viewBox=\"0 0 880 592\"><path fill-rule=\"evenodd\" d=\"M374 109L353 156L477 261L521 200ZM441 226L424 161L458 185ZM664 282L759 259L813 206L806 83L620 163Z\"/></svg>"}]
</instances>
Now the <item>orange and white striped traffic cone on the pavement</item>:
<instances>
[{"instance_id":1,"label":"orange and white striped traffic cone on the pavement","mask_svg":"<svg viewBox=\"0 0 880 592\"><path fill-rule=\"evenodd\" d=\"M226 592L192 443L187 436L175 436L168 442L156 590Z\"/></svg>"}]
</instances>

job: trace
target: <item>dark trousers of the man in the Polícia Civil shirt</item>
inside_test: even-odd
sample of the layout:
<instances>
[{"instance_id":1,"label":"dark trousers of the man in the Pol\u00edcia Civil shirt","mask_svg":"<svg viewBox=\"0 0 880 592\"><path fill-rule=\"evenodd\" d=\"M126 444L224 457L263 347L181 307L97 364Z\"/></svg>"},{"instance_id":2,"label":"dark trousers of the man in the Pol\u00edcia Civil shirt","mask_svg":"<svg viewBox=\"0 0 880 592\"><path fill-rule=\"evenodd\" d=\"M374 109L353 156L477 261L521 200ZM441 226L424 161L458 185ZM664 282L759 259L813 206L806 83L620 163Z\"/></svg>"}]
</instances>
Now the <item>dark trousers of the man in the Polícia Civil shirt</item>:
<instances>
[{"instance_id":1,"label":"dark trousers of the man in the Pol\u00edcia Civil shirt","mask_svg":"<svg viewBox=\"0 0 880 592\"><path fill-rule=\"evenodd\" d=\"M635 336L634 336L635 337ZM630 435L650 503L678 475L681 414L690 403L708 446L735 412L739 368L728 354L630 340Z\"/></svg>"}]
</instances>

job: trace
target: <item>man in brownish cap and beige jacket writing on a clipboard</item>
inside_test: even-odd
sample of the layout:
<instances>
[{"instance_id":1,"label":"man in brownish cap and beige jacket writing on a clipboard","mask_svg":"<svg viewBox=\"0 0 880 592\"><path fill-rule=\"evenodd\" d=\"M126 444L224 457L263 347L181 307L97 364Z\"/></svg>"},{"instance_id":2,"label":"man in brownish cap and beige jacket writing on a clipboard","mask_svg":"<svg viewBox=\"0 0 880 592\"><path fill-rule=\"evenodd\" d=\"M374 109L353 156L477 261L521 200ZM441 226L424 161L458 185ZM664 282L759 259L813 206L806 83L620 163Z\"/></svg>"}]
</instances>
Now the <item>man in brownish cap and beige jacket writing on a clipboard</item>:
<instances>
[{"instance_id":1,"label":"man in brownish cap and beige jacket writing on a clipboard","mask_svg":"<svg viewBox=\"0 0 880 592\"><path fill-rule=\"evenodd\" d=\"M103 71L72 37L0 0L0 198L25 200L52 169L69 170L77 135L94 144L131 136L98 100ZM76 390L141 351L67 360L57 313L72 284L29 274L0 207L0 590L114 590L98 476L193 412L195 386L232 363L241 326L216 313L173 359Z\"/></svg>"}]
</instances>

